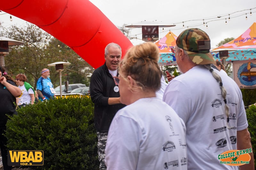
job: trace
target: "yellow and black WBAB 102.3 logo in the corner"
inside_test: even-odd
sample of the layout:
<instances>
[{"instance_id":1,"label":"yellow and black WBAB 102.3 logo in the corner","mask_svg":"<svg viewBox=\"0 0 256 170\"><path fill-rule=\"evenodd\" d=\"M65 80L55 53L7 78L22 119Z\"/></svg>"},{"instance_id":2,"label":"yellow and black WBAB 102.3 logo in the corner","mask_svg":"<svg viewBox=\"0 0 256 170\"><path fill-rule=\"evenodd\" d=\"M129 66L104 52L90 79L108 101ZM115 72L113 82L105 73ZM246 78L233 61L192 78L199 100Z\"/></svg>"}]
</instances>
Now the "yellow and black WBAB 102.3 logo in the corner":
<instances>
[{"instance_id":1,"label":"yellow and black WBAB 102.3 logo in the corner","mask_svg":"<svg viewBox=\"0 0 256 170\"><path fill-rule=\"evenodd\" d=\"M44 151L8 151L7 163L9 166L42 166L44 165Z\"/></svg>"}]
</instances>

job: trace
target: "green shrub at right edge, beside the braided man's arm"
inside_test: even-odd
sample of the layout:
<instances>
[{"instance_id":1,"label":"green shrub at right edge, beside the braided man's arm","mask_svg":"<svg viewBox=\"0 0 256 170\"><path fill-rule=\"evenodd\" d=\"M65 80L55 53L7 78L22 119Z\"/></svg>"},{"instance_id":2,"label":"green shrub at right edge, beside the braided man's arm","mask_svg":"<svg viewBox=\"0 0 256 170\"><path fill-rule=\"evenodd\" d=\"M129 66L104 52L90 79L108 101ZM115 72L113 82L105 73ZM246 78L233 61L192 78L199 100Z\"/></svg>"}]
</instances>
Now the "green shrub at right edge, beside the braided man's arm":
<instances>
[{"instance_id":1,"label":"green shrub at right edge, beside the braided man's arm","mask_svg":"<svg viewBox=\"0 0 256 170\"><path fill-rule=\"evenodd\" d=\"M256 169L256 106L252 105L248 109L246 109L246 116L248 121L248 130L251 134L252 138L252 151L254 157L254 166Z\"/></svg>"}]
</instances>

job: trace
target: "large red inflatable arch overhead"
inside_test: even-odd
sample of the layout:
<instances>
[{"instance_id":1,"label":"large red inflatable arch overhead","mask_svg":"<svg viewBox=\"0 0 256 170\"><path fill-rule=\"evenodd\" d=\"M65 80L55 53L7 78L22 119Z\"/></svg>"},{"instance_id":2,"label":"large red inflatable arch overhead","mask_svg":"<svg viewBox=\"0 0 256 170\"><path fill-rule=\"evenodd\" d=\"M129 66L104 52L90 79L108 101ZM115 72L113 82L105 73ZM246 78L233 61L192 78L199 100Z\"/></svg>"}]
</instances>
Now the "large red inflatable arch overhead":
<instances>
[{"instance_id":1,"label":"large red inflatable arch overhead","mask_svg":"<svg viewBox=\"0 0 256 170\"><path fill-rule=\"evenodd\" d=\"M104 49L119 44L122 56L132 43L88 0L1 0L0 10L40 27L68 45L93 68L104 62Z\"/></svg>"}]
</instances>

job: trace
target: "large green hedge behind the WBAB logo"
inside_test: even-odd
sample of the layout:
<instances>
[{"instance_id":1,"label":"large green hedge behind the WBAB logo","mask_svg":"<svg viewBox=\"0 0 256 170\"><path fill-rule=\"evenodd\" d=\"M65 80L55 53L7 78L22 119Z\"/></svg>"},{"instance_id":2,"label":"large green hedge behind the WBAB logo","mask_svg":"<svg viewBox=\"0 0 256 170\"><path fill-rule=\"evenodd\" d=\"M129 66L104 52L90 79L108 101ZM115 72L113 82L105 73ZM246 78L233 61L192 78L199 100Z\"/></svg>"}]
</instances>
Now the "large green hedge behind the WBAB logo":
<instances>
[{"instance_id":1,"label":"large green hedge behind the WBAB logo","mask_svg":"<svg viewBox=\"0 0 256 170\"><path fill-rule=\"evenodd\" d=\"M99 169L94 105L89 98L55 99L18 109L7 122L10 150L42 150L34 169Z\"/></svg>"}]
</instances>

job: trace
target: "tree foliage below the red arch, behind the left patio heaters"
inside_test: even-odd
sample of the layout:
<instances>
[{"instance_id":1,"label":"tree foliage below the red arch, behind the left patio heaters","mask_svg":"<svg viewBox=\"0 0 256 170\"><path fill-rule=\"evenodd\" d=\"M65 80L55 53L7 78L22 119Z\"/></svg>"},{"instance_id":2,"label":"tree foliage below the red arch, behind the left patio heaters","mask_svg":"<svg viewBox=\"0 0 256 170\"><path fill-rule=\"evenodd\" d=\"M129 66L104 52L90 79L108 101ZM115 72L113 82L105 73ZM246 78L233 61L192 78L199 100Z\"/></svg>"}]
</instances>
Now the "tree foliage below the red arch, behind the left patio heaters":
<instances>
[{"instance_id":1,"label":"tree foliage below the red arch, behind the left patio heaters","mask_svg":"<svg viewBox=\"0 0 256 170\"><path fill-rule=\"evenodd\" d=\"M77 55L67 45L60 42L33 24L23 27L11 26L4 28L0 25L0 36L24 42L20 46L9 46L9 54L5 56L5 68L12 77L19 73L27 76L27 82L36 88L36 81L41 76L41 70L48 68L51 72L52 84L60 84L59 73L55 67L47 64L54 62L69 62L62 72L62 84L65 81L89 85L93 72L84 59Z\"/></svg>"}]
</instances>

